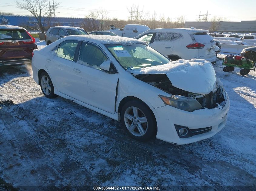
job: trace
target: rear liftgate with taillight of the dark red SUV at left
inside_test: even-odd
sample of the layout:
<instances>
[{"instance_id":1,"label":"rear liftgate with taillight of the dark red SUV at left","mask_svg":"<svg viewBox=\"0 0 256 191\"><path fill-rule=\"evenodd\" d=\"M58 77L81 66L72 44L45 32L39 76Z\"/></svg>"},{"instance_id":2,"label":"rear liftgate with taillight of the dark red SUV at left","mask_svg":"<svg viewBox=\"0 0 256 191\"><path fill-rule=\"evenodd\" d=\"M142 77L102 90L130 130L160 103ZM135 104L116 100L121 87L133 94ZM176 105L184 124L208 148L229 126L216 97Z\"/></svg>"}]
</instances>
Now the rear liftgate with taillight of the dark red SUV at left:
<instances>
[{"instance_id":1,"label":"rear liftgate with taillight of the dark red SUV at left","mask_svg":"<svg viewBox=\"0 0 256 191\"><path fill-rule=\"evenodd\" d=\"M31 37L22 29L0 30L0 59L31 58L36 48Z\"/></svg>"}]
</instances>

